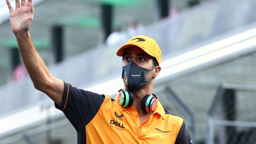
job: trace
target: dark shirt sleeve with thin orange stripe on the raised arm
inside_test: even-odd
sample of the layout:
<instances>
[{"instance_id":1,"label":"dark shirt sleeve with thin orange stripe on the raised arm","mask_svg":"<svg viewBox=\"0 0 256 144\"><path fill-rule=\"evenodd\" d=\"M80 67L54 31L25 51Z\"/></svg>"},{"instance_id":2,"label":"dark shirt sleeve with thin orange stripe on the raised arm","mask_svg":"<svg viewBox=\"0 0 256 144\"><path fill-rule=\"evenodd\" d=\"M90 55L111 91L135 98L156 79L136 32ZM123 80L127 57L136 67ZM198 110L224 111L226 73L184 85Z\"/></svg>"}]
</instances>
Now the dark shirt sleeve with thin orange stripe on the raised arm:
<instances>
[{"instance_id":1,"label":"dark shirt sleeve with thin orange stripe on the raised arm","mask_svg":"<svg viewBox=\"0 0 256 144\"><path fill-rule=\"evenodd\" d=\"M63 111L70 123L78 131L93 119L104 99L104 95L77 89L64 82L61 105L55 103L55 107Z\"/></svg>"}]
</instances>

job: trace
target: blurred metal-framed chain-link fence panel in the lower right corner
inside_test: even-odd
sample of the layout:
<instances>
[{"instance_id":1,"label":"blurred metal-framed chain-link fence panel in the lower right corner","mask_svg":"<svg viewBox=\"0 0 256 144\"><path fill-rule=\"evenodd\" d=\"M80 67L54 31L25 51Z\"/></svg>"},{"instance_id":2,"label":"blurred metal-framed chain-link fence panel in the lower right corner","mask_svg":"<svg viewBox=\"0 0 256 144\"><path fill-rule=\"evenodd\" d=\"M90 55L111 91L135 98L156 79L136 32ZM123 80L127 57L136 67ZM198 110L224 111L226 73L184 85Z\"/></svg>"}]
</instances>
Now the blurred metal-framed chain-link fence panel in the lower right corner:
<instances>
[{"instance_id":1,"label":"blurred metal-framed chain-link fence panel in the lower right corner","mask_svg":"<svg viewBox=\"0 0 256 144\"><path fill-rule=\"evenodd\" d=\"M206 144L255 144L256 86L221 85L207 115Z\"/></svg>"}]
</instances>

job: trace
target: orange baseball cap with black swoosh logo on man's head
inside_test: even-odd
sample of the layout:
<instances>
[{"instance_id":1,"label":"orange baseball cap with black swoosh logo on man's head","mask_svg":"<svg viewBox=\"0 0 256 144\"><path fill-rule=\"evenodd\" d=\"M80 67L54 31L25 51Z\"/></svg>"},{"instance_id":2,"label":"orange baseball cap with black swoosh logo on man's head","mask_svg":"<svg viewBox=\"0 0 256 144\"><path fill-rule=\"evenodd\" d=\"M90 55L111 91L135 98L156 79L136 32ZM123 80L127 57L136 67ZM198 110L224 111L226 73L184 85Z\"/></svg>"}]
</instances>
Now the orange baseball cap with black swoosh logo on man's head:
<instances>
[{"instance_id":1,"label":"orange baseball cap with black swoosh logo on man's head","mask_svg":"<svg viewBox=\"0 0 256 144\"><path fill-rule=\"evenodd\" d=\"M126 48L131 46L136 46L144 50L147 54L152 57L156 57L158 65L161 63L161 50L154 39L147 37L145 35L137 35L129 39L119 50L117 51L117 55L121 56L124 54Z\"/></svg>"}]
</instances>

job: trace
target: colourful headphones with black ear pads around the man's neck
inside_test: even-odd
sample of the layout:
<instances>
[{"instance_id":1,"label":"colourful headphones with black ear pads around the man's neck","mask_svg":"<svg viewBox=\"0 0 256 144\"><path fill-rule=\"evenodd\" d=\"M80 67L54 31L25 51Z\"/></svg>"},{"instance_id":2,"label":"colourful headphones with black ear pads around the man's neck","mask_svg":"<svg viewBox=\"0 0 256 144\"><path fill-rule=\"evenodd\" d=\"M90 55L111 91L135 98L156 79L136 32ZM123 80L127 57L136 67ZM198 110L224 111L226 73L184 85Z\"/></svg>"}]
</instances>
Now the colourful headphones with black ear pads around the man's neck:
<instances>
[{"instance_id":1,"label":"colourful headphones with black ear pads around the man's neck","mask_svg":"<svg viewBox=\"0 0 256 144\"><path fill-rule=\"evenodd\" d=\"M122 107L130 107L134 102L134 94L128 89L121 89L118 91L117 100ZM145 113L151 113L156 109L158 103L158 96L155 94L147 94L141 101L141 109Z\"/></svg>"}]
</instances>

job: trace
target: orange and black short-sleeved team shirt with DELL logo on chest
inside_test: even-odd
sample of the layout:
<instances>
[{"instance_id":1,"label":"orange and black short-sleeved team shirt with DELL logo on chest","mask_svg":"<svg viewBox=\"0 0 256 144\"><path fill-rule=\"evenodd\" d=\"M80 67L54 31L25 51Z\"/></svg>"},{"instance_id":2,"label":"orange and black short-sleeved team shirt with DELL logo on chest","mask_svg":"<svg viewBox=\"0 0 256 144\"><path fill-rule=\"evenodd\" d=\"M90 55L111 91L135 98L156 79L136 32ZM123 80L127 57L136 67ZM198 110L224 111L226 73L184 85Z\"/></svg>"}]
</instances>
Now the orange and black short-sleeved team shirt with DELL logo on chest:
<instances>
[{"instance_id":1,"label":"orange and black short-sleeved team shirt with DELL logo on chest","mask_svg":"<svg viewBox=\"0 0 256 144\"><path fill-rule=\"evenodd\" d=\"M121 107L108 95L64 82L61 105L56 108L76 129L78 144L192 144L184 120L159 101L156 110L141 123L133 106Z\"/></svg>"}]
</instances>

